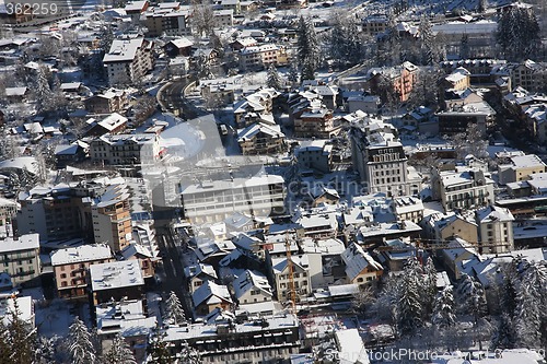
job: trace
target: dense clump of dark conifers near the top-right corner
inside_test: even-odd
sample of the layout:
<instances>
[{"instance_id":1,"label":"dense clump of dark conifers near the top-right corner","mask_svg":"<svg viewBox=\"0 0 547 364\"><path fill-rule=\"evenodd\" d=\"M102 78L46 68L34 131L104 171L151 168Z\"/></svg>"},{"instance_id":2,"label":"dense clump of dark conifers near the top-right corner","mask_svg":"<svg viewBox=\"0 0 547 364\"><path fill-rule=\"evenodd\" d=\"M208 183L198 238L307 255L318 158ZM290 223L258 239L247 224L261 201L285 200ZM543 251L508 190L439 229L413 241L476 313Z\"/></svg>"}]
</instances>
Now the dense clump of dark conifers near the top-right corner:
<instances>
[{"instance_id":1,"label":"dense clump of dark conifers near the top-right corner","mask_svg":"<svg viewBox=\"0 0 547 364\"><path fill-rule=\"evenodd\" d=\"M534 57L540 47L539 24L531 9L512 7L498 21L497 39L502 56L510 61Z\"/></svg>"}]
</instances>

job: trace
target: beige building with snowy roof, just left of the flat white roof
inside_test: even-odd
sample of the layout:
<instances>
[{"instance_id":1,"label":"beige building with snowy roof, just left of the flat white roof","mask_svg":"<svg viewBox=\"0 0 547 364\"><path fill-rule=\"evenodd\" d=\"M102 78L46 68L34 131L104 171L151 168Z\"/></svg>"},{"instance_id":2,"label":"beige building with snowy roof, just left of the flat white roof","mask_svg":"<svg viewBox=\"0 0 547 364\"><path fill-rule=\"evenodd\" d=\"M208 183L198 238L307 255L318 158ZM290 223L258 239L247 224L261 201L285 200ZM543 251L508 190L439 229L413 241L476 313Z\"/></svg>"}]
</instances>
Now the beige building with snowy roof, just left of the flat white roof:
<instances>
[{"instance_id":1,"label":"beige building with snowy roof, just left of the flat white roof","mask_svg":"<svg viewBox=\"0 0 547 364\"><path fill-rule=\"evenodd\" d=\"M85 298L89 268L115 260L106 244L63 248L55 250L50 257L57 295L61 298Z\"/></svg>"}]
</instances>

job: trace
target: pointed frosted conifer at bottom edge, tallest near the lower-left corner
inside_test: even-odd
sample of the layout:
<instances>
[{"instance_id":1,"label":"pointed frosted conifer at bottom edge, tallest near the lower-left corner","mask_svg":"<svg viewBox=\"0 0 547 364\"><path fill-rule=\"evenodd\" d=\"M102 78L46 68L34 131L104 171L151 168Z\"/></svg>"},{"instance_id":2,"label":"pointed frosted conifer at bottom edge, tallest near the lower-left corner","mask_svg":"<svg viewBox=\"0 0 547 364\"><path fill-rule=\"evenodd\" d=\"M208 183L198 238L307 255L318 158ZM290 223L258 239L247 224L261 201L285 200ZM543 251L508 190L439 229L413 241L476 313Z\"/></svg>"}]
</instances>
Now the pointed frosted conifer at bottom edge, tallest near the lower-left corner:
<instances>
[{"instance_id":1,"label":"pointed frosted conifer at bottom edge, tallest near the lower-left corner","mask_svg":"<svg viewBox=\"0 0 547 364\"><path fill-rule=\"evenodd\" d=\"M91 333L79 317L74 317L69 328L68 351L73 364L97 363L96 350Z\"/></svg>"}]
</instances>

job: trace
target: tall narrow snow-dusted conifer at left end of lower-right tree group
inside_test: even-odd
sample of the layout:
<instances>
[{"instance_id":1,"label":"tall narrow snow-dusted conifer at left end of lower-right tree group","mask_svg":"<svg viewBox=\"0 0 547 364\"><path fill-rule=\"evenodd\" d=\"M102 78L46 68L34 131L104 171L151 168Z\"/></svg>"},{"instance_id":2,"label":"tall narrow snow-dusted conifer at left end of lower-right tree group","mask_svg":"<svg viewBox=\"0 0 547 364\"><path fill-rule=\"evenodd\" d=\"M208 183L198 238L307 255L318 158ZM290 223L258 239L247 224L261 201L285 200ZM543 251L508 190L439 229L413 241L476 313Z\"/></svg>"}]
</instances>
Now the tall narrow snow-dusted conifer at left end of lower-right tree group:
<instances>
[{"instance_id":1,"label":"tall narrow snow-dusted conifer at left end of lower-right tree group","mask_svg":"<svg viewBox=\"0 0 547 364\"><path fill-rule=\"evenodd\" d=\"M401 336L412 334L423 325L423 277L418 259L409 259L405 266L397 307L397 328Z\"/></svg>"}]
</instances>

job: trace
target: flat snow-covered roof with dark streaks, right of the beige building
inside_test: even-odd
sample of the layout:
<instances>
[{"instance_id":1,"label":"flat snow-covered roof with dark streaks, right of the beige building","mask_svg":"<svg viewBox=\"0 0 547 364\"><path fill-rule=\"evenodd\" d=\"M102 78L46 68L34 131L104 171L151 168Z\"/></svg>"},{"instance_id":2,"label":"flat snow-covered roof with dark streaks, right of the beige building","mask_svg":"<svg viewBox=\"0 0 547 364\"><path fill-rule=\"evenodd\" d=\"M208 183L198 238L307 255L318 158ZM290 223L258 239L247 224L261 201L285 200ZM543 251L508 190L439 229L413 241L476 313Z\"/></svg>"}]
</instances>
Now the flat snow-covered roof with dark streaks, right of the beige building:
<instances>
[{"instance_id":1,"label":"flat snow-covered roof with dark streaks, right of the beige building","mask_svg":"<svg viewBox=\"0 0 547 364\"><path fill-rule=\"evenodd\" d=\"M138 260L93 265L90 267L90 280L93 292L144 284Z\"/></svg>"}]
</instances>

